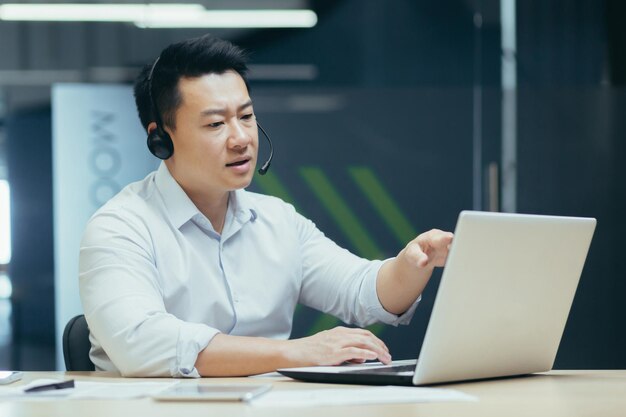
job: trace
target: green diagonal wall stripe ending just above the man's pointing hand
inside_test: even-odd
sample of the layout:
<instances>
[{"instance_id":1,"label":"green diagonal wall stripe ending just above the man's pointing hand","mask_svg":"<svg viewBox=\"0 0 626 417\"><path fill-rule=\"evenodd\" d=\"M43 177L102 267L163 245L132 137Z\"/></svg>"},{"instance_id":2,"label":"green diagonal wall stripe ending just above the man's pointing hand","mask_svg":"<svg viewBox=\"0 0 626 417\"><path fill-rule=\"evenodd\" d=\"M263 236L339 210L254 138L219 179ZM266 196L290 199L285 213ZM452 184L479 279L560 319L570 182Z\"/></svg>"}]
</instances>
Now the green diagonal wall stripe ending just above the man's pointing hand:
<instances>
[{"instance_id":1,"label":"green diagonal wall stripe ending just above the man's pointing hand","mask_svg":"<svg viewBox=\"0 0 626 417\"><path fill-rule=\"evenodd\" d=\"M417 236L411 223L371 169L351 167L348 172L401 244L405 245Z\"/></svg>"}]
</instances>

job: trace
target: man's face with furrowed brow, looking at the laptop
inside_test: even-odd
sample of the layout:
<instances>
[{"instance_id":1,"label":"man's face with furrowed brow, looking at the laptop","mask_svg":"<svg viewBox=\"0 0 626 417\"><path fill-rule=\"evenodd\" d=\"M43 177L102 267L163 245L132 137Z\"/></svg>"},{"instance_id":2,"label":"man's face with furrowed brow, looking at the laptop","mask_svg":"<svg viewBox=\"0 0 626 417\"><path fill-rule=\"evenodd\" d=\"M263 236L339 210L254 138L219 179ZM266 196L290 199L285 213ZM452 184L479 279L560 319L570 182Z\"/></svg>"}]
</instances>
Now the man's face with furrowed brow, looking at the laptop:
<instances>
[{"instance_id":1,"label":"man's face with furrowed brow, looking at the laptop","mask_svg":"<svg viewBox=\"0 0 626 417\"><path fill-rule=\"evenodd\" d=\"M221 198L247 187L257 160L258 130L248 89L239 74L181 78L176 130L168 129L172 176L190 195Z\"/></svg>"}]
</instances>

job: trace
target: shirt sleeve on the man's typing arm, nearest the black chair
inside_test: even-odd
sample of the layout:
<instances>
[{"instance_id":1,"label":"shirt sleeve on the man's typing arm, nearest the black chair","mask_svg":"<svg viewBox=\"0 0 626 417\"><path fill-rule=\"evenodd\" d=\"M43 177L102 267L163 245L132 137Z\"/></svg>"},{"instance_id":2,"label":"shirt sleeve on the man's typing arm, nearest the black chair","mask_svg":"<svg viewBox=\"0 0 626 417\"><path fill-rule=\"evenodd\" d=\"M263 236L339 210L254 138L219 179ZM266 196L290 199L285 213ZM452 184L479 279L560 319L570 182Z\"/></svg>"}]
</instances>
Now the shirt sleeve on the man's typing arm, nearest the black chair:
<instances>
[{"instance_id":1,"label":"shirt sleeve on the man's typing arm, nearest the black chair","mask_svg":"<svg viewBox=\"0 0 626 417\"><path fill-rule=\"evenodd\" d=\"M197 356L219 331L166 311L152 247L140 220L116 212L90 220L79 287L91 337L124 376L199 377ZM93 349L92 360L103 361Z\"/></svg>"}]
</instances>

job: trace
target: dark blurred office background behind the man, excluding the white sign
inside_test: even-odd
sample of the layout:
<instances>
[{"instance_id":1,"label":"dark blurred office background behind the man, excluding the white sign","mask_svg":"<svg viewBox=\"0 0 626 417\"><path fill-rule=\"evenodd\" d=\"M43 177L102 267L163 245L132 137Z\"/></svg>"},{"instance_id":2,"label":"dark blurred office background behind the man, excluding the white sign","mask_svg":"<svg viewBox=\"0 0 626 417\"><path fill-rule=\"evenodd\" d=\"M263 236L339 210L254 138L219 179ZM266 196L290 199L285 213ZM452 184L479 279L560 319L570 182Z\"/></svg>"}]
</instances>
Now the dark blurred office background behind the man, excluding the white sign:
<instances>
[{"instance_id":1,"label":"dark blurred office background behind the man, excluding the white sign","mask_svg":"<svg viewBox=\"0 0 626 417\"><path fill-rule=\"evenodd\" d=\"M463 209L596 217L556 367L626 366L624 2L186 3L315 19L288 28L0 20L0 369L58 366L52 86L129 84L167 44L206 32L251 52L255 110L276 149L271 175L251 189L292 202L355 253L392 256L416 233L452 230ZM395 358L417 355L439 277L410 328L373 329ZM301 308L293 336L336 324Z\"/></svg>"}]
</instances>

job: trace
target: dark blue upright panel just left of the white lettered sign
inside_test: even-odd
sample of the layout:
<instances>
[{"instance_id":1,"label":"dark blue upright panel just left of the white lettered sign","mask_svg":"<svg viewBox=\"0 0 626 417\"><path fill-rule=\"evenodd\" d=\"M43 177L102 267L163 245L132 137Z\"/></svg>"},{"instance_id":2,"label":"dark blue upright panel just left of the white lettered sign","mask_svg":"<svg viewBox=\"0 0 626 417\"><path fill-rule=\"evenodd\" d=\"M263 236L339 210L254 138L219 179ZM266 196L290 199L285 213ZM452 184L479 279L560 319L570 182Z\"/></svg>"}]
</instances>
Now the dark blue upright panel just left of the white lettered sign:
<instances>
[{"instance_id":1,"label":"dark blue upright panel just left of the white lettered sign","mask_svg":"<svg viewBox=\"0 0 626 417\"><path fill-rule=\"evenodd\" d=\"M54 261L50 108L13 114L6 124L11 185L13 367L54 364ZM27 350L36 352L32 356ZM26 356L25 356L26 355Z\"/></svg>"}]
</instances>

